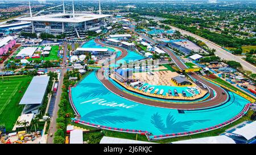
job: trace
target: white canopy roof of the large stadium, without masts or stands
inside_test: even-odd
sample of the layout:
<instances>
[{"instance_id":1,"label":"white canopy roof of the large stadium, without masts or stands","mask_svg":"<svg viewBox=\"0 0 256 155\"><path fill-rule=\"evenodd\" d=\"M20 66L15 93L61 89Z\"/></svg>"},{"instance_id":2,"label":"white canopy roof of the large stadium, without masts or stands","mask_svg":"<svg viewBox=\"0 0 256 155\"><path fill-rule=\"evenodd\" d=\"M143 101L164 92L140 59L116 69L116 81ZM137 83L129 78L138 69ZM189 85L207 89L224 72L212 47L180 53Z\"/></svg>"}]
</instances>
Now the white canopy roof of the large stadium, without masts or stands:
<instances>
[{"instance_id":1,"label":"white canopy roof of the large stadium, without masts or stands","mask_svg":"<svg viewBox=\"0 0 256 155\"><path fill-rule=\"evenodd\" d=\"M64 23L81 23L90 20L105 18L113 15L105 14L75 14L75 18L72 17L72 14L51 14L51 15L42 15L42 16L32 16L26 18L15 18L15 20L22 21L39 21L39 22L64 22Z\"/></svg>"}]
</instances>

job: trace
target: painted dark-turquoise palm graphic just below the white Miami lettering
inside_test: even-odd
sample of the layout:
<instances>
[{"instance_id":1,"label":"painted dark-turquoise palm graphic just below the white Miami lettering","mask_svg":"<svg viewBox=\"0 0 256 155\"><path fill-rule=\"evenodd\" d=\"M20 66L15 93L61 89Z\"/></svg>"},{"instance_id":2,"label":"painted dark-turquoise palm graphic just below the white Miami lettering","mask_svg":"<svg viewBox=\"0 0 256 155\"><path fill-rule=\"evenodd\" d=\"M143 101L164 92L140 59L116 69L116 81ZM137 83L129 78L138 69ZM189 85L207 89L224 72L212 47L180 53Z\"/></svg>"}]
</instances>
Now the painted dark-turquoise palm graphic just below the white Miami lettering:
<instances>
[{"instance_id":1,"label":"painted dark-turquoise palm graphic just below the white Miami lettering","mask_svg":"<svg viewBox=\"0 0 256 155\"><path fill-rule=\"evenodd\" d=\"M82 116L81 119L85 120L86 122L99 123L99 124L106 124L106 123L117 124L117 123L137 121L137 119L129 118L127 116L110 115L116 111L118 111L118 109L115 109L115 108L104 108L104 109L94 110Z\"/></svg>"}]
</instances>

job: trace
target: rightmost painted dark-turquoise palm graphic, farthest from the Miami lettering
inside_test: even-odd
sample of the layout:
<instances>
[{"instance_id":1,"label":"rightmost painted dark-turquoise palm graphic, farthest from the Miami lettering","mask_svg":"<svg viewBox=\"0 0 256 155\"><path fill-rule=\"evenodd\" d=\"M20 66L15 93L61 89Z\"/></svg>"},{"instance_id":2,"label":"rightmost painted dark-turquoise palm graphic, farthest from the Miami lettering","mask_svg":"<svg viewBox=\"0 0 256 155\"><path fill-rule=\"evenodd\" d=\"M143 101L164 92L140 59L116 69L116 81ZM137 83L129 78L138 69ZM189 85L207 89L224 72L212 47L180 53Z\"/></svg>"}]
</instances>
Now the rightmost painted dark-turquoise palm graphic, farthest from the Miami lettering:
<instances>
[{"instance_id":1,"label":"rightmost painted dark-turquoise palm graphic, farthest from the Miami lettering","mask_svg":"<svg viewBox=\"0 0 256 155\"><path fill-rule=\"evenodd\" d=\"M159 131L163 133L175 133L180 131L188 131L191 125L195 123L203 123L208 120L188 120L184 122L177 122L174 116L171 113L168 114L166 118L166 124L164 124L163 118L158 112L151 116L151 123L155 125Z\"/></svg>"}]
</instances>

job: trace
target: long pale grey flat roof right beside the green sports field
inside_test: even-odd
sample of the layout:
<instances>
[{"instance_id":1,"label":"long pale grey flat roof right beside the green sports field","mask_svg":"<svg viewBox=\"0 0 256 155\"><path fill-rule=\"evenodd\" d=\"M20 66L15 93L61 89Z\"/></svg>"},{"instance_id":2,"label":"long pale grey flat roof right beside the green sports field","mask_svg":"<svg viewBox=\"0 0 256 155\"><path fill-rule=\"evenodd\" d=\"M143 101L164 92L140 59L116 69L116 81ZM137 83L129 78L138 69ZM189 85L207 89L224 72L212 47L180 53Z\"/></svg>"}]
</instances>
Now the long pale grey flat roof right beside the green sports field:
<instances>
[{"instance_id":1,"label":"long pale grey flat roof right beside the green sports field","mask_svg":"<svg viewBox=\"0 0 256 155\"><path fill-rule=\"evenodd\" d=\"M48 86L48 76L35 76L19 104L41 104Z\"/></svg>"}]
</instances>

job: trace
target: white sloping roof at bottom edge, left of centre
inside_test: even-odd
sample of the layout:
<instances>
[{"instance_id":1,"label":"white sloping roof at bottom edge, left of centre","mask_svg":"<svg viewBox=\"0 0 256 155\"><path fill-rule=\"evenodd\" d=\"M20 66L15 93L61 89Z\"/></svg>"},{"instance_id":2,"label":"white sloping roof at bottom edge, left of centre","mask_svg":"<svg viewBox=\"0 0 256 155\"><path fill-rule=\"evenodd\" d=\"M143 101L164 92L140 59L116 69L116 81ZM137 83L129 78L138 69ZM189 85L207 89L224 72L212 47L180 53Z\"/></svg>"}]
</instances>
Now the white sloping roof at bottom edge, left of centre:
<instances>
[{"instance_id":1,"label":"white sloping roof at bottom edge, left of centre","mask_svg":"<svg viewBox=\"0 0 256 155\"><path fill-rule=\"evenodd\" d=\"M152 144L152 143L147 141L119 139L119 138L104 136L102 137L100 144Z\"/></svg>"}]
</instances>

